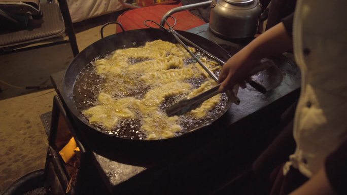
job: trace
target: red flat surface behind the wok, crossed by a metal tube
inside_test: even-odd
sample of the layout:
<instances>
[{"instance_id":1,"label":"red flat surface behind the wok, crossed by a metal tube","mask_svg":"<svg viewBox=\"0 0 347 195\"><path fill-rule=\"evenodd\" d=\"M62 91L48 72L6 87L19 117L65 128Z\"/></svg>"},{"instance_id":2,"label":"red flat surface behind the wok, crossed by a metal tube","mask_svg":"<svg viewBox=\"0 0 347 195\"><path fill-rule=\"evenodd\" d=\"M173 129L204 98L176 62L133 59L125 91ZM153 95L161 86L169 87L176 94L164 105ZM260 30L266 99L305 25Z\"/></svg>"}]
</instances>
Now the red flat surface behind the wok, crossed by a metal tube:
<instances>
[{"instance_id":1,"label":"red flat surface behind the wok, crossed by a metal tube","mask_svg":"<svg viewBox=\"0 0 347 195\"><path fill-rule=\"evenodd\" d=\"M147 28L144 25L145 20L154 20L160 23L161 18L167 11L179 6L182 6L182 4L156 5L129 10L120 15L117 21L123 25L125 30ZM189 11L178 12L173 14L172 16L177 20L177 24L174 27L176 30L188 30L190 28L206 24L202 19L190 13ZM170 24L173 23L170 19L168 21L170 22ZM116 32L121 31L122 29L117 27Z\"/></svg>"}]
</instances>

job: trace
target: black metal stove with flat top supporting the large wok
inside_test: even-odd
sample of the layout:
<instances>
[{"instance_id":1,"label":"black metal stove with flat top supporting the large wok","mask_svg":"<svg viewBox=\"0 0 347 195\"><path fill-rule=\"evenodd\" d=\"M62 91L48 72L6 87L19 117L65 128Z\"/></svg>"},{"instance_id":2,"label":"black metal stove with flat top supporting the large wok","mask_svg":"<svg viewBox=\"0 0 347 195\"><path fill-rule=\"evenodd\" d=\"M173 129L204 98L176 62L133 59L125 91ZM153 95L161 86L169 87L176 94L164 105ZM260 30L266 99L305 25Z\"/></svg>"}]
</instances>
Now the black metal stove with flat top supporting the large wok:
<instances>
[{"instance_id":1,"label":"black metal stove with flat top supporting the large wok","mask_svg":"<svg viewBox=\"0 0 347 195\"><path fill-rule=\"evenodd\" d=\"M230 55L249 43L222 40L209 31L208 24L188 31L216 42ZM293 60L279 56L272 58L271 63L277 68L254 77L268 83L266 94L250 86L240 89L240 105L232 105L219 120L195 134L191 144L150 164L110 158L89 149L81 134L83 130L61 96L64 71L52 74L58 96L54 98L46 162L48 194L66 192L68 186L70 194L218 194L249 173L252 162L276 135L269 131L270 127L299 96L300 74ZM277 75L275 79L271 74ZM68 171L57 152L57 139L72 136L81 150L77 174Z\"/></svg>"}]
</instances>

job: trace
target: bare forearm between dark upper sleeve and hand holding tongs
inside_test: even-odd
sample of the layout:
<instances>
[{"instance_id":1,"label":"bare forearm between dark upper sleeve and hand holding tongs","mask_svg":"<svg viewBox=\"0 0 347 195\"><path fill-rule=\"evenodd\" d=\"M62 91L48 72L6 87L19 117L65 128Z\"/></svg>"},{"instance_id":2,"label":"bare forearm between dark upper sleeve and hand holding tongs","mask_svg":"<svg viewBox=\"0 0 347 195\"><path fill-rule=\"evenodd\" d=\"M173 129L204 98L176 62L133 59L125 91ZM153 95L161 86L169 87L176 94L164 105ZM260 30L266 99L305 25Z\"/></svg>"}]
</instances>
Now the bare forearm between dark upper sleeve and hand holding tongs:
<instances>
[{"instance_id":1,"label":"bare forearm between dark upper sleeve and hand holding tongs","mask_svg":"<svg viewBox=\"0 0 347 195\"><path fill-rule=\"evenodd\" d=\"M244 49L249 52L250 58L260 60L264 57L282 54L292 48L292 39L281 22L255 38Z\"/></svg>"}]
</instances>

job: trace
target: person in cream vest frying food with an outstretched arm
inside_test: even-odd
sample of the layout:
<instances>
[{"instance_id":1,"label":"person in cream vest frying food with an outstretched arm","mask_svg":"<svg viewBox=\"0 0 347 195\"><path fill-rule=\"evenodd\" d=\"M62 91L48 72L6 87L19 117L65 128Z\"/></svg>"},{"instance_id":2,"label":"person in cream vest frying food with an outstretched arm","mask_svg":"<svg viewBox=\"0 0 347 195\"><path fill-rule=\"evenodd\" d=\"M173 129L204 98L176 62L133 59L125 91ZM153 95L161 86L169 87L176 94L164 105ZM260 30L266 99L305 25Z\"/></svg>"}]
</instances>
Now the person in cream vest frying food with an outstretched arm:
<instances>
[{"instance_id":1,"label":"person in cream vest frying food with an outstretched arm","mask_svg":"<svg viewBox=\"0 0 347 195\"><path fill-rule=\"evenodd\" d=\"M286 182L294 172L303 179L290 194L347 194L346 7L346 1L298 0L293 41L291 26L281 22L232 56L219 77L220 91L231 89L255 62L294 48L302 85L294 119L296 150L283 174ZM283 192L280 187L272 193Z\"/></svg>"}]
</instances>

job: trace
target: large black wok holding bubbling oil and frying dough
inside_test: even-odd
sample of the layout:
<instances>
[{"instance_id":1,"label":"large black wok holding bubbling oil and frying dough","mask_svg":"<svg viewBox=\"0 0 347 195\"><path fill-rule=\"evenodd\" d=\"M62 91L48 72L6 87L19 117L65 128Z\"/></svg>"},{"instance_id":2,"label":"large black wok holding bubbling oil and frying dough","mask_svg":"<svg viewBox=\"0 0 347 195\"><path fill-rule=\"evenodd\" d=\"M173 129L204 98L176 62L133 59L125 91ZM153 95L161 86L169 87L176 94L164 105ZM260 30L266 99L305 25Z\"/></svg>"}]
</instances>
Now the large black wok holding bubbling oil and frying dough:
<instances>
[{"instance_id":1,"label":"large black wok holding bubbling oil and frying dough","mask_svg":"<svg viewBox=\"0 0 347 195\"><path fill-rule=\"evenodd\" d=\"M178 31L180 34L188 38L193 43L199 45L204 50L210 52L221 60L229 59L229 54L217 44L203 38L199 35ZM175 38L166 30L160 29L138 29L126 32L117 33L111 36L102 38L93 43L81 53L68 66L63 78L63 98L70 109L75 122L78 123L79 132L83 139L88 144L88 147L98 154L106 156L117 161L125 161L127 163L150 162L151 160L161 158L176 150L181 150L184 147L196 145L200 138L206 137L210 125L203 125L194 131L190 131L179 137L173 137L162 140L131 140L120 138L115 135L109 135L96 130L84 116L76 109L73 99L73 89L77 75L81 70L94 58L106 55L120 48L134 47L132 44L145 44L146 41L163 40L171 43L177 43ZM230 104L225 108L228 110ZM225 111L223 113L225 113ZM217 120L220 116L216 116ZM201 132L201 133L199 133ZM204 133L205 132L205 133ZM204 135L203 135L204 134ZM208 136L207 136L208 137ZM203 141L201 141L203 142ZM190 146L189 146L190 145Z\"/></svg>"}]
</instances>

